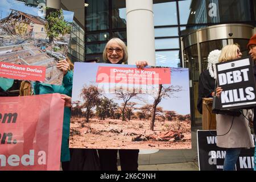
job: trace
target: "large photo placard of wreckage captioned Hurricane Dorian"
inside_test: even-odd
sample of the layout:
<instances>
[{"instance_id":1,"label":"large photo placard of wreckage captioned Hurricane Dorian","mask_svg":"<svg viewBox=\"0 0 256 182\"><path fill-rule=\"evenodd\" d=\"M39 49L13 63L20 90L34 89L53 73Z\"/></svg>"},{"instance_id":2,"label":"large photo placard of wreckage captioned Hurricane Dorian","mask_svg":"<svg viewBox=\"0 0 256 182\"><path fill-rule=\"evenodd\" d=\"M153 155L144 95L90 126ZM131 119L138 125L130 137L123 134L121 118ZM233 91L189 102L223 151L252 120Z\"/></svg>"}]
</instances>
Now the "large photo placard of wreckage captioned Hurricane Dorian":
<instances>
[{"instance_id":1,"label":"large photo placard of wreckage captioned Hurricane Dorian","mask_svg":"<svg viewBox=\"0 0 256 182\"><path fill-rule=\"evenodd\" d=\"M0 77L61 85L74 13L1 0Z\"/></svg>"}]
</instances>

